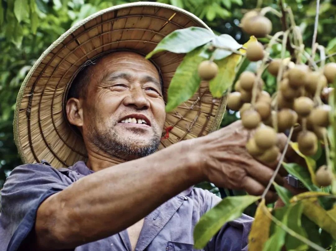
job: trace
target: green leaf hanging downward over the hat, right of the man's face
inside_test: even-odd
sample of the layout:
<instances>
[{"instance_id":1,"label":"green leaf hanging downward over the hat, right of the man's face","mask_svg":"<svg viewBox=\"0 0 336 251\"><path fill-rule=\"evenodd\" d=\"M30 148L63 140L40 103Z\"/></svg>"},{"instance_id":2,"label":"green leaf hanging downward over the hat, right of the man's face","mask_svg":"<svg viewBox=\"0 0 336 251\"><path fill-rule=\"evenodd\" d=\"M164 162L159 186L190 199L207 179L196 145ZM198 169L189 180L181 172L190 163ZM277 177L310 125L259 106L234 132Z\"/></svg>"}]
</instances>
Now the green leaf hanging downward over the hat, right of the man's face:
<instances>
[{"instance_id":1,"label":"green leaf hanging downward over the hat, right of the man's face","mask_svg":"<svg viewBox=\"0 0 336 251\"><path fill-rule=\"evenodd\" d=\"M175 109L182 102L190 99L199 88L201 78L197 73L198 65L204 60L200 57L202 47L185 55L177 67L168 88L166 112Z\"/></svg>"}]
</instances>

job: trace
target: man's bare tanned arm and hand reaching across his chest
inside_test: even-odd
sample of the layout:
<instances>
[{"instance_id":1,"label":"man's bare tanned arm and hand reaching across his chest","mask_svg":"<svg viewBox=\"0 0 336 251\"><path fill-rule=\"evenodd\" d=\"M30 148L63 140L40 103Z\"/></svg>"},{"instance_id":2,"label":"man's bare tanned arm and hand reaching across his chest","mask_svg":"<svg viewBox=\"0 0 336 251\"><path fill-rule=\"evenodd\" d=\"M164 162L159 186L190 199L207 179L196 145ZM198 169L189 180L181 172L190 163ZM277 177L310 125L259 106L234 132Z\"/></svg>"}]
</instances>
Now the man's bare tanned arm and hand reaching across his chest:
<instances>
[{"instance_id":1,"label":"man's bare tanned arm and hand reaching across his chest","mask_svg":"<svg viewBox=\"0 0 336 251\"><path fill-rule=\"evenodd\" d=\"M260 195L273 170L247 153L246 140L247 132L236 122L81 178L38 208L36 248L74 248L111 236L204 180ZM275 194L269 191L267 198Z\"/></svg>"}]
</instances>

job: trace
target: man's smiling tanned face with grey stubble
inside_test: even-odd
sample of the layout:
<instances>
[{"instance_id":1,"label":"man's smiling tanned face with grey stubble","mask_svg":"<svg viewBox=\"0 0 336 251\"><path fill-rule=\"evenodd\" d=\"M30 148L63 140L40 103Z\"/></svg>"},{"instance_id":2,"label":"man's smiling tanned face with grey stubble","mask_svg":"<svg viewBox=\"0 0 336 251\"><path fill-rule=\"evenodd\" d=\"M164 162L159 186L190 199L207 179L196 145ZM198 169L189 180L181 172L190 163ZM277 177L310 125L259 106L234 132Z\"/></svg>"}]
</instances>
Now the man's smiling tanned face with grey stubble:
<instances>
[{"instance_id":1,"label":"man's smiling tanned face with grey stubble","mask_svg":"<svg viewBox=\"0 0 336 251\"><path fill-rule=\"evenodd\" d=\"M81 100L84 140L127 159L157 150L166 114L156 67L136 53L114 52L90 73Z\"/></svg>"}]
</instances>

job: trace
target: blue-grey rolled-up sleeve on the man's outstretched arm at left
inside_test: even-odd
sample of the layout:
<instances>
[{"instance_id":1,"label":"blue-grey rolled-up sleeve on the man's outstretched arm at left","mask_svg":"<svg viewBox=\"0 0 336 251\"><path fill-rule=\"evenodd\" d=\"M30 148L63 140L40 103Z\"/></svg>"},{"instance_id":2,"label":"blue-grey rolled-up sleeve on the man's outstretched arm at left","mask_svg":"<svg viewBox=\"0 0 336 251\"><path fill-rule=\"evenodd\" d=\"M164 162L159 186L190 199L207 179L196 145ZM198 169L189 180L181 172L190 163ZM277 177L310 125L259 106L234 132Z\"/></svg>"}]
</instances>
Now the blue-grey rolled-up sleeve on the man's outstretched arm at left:
<instances>
[{"instance_id":1,"label":"blue-grey rolled-up sleeve on the man's outstretched arm at left","mask_svg":"<svg viewBox=\"0 0 336 251\"><path fill-rule=\"evenodd\" d=\"M16 167L1 190L0 251L16 251L35 226L40 204L73 181L42 164Z\"/></svg>"}]
</instances>

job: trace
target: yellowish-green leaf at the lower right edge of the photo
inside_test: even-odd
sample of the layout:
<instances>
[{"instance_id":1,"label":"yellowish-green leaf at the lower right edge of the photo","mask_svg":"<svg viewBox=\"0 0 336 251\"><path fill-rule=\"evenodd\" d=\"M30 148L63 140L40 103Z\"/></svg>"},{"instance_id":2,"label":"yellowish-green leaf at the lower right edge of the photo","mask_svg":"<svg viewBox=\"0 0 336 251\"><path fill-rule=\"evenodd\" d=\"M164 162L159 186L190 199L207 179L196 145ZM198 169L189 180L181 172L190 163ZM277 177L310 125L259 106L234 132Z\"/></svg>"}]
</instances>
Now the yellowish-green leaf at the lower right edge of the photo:
<instances>
[{"instance_id":1,"label":"yellowish-green leaf at the lower right edge of the photo","mask_svg":"<svg viewBox=\"0 0 336 251\"><path fill-rule=\"evenodd\" d=\"M334 208L329 211L324 210L317 198L304 199L301 203L303 213L336 239L336 210Z\"/></svg>"}]
</instances>

